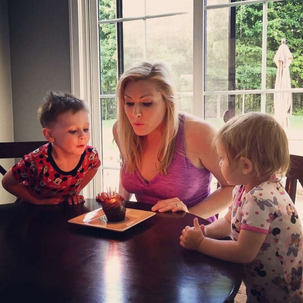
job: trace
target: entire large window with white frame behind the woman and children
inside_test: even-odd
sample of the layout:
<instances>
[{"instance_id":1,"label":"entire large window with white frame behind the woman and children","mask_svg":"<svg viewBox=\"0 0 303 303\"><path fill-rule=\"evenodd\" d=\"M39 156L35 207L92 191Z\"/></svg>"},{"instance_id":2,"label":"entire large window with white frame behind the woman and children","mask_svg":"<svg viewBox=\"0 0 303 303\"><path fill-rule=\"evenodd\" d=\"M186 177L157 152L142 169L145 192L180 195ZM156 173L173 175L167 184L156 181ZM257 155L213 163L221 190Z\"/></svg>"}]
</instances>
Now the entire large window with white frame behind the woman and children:
<instances>
[{"instance_id":1,"label":"entire large window with white frame behind the woman and children","mask_svg":"<svg viewBox=\"0 0 303 303\"><path fill-rule=\"evenodd\" d=\"M92 143L102 155L91 197L118 187L115 88L119 75L141 60L167 61L179 109L217 128L226 112L274 114L274 94L289 92L288 135L302 138L301 0L92 0L71 1L70 9L72 92L91 105ZM273 57L282 38L294 60L291 88L277 90Z\"/></svg>"}]
</instances>

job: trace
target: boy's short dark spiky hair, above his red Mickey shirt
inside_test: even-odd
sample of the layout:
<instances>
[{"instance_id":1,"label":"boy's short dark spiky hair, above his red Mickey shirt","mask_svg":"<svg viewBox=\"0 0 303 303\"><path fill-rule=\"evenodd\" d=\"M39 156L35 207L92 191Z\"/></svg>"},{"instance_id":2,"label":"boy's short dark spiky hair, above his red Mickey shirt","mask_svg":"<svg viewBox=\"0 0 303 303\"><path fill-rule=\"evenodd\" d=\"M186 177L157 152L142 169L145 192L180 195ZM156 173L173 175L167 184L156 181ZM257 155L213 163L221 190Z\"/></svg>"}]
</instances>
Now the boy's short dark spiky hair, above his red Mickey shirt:
<instances>
[{"instance_id":1,"label":"boy's short dark spiky hair, above his red Mickey shirt","mask_svg":"<svg viewBox=\"0 0 303 303\"><path fill-rule=\"evenodd\" d=\"M42 127L47 127L56 122L58 115L66 111L72 111L75 114L82 110L88 112L88 108L82 100L68 93L49 91L44 104L38 109L38 118Z\"/></svg>"}]
</instances>

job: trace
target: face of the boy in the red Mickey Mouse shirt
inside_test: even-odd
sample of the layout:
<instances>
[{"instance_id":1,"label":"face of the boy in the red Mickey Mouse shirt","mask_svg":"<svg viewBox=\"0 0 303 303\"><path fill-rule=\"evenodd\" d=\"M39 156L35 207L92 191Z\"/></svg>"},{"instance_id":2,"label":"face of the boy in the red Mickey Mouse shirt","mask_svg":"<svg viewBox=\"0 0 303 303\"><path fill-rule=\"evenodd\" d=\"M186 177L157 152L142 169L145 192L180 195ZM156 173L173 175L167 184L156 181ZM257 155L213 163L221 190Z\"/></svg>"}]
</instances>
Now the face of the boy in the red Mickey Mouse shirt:
<instances>
[{"instance_id":1,"label":"face of the boy in the red Mickey Mouse shirt","mask_svg":"<svg viewBox=\"0 0 303 303\"><path fill-rule=\"evenodd\" d=\"M48 139L55 148L71 155L82 155L90 139L89 119L86 111L64 112L49 128L52 137Z\"/></svg>"}]
</instances>

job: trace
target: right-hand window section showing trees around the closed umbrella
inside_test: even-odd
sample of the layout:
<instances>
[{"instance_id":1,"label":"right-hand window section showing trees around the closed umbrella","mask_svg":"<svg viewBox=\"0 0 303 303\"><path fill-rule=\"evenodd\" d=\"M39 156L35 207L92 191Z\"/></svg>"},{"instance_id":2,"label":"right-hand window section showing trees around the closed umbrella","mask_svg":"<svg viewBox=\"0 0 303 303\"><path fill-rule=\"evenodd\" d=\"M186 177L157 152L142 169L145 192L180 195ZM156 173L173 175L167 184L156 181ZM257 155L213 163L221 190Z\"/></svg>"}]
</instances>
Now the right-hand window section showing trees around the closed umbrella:
<instances>
[{"instance_id":1,"label":"right-hand window section showing trees around the closed umbrella","mask_svg":"<svg viewBox=\"0 0 303 303\"><path fill-rule=\"evenodd\" d=\"M204 117L221 126L222 116L248 111L274 114L282 38L293 55L289 110L291 130L303 130L303 2L205 0ZM301 123L298 121L301 120ZM291 135L291 134L290 134ZM299 138L298 138L299 139Z\"/></svg>"}]
</instances>

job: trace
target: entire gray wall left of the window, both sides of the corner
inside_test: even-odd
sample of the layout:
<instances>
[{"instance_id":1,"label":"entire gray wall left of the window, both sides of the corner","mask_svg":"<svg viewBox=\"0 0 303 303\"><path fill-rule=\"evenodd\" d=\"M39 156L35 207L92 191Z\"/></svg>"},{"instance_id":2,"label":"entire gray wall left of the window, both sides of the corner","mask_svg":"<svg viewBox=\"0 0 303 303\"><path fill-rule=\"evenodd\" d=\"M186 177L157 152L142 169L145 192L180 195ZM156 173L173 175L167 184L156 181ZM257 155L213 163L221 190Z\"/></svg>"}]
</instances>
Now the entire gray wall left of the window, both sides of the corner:
<instances>
[{"instance_id":1,"label":"entire gray wall left of the window, both sides of the corner","mask_svg":"<svg viewBox=\"0 0 303 303\"><path fill-rule=\"evenodd\" d=\"M69 45L68 0L0 0L0 141L44 139L37 109L48 90L71 91ZM0 204L14 200L0 183Z\"/></svg>"}]
</instances>

